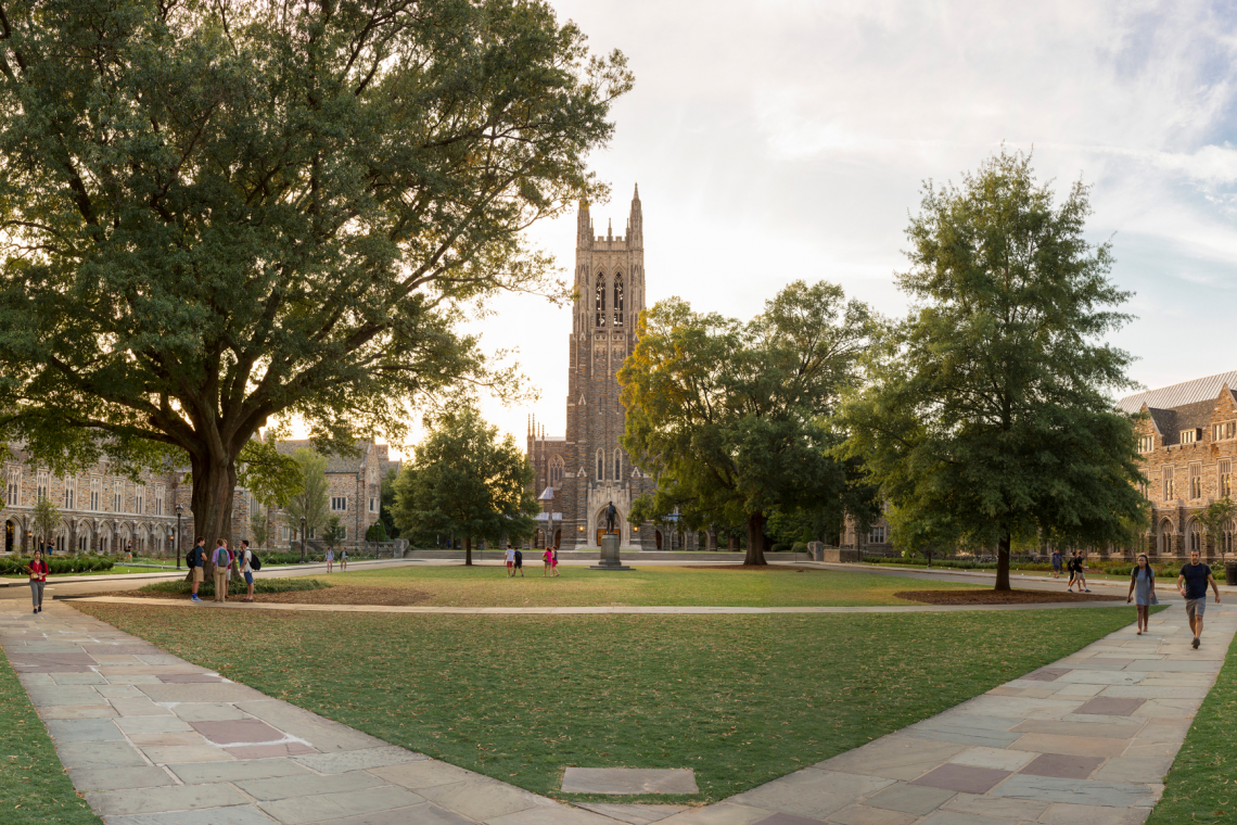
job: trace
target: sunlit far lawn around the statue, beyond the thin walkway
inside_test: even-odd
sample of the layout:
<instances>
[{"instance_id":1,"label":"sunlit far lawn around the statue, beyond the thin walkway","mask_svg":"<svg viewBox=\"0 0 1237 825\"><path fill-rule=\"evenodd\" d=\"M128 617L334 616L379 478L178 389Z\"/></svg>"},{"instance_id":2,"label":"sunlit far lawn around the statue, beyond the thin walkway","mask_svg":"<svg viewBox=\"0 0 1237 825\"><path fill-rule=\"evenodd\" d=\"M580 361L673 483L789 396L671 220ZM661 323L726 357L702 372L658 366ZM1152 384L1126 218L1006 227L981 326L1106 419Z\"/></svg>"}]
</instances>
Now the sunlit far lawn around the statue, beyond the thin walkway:
<instances>
[{"instance_id":1,"label":"sunlit far lawn around the statue, beyond the thin walkway","mask_svg":"<svg viewBox=\"0 0 1237 825\"><path fill-rule=\"evenodd\" d=\"M923 581L873 573L797 571L721 568L648 566L631 571L589 570L559 565L558 578L542 578L542 564L528 564L524 578L506 578L501 566L401 566L333 573L334 584L408 588L426 594L418 604L447 607L580 607L597 605L711 605L724 607L792 607L910 605L894 599L899 590L923 589ZM933 589L983 585L934 581Z\"/></svg>"}]
</instances>

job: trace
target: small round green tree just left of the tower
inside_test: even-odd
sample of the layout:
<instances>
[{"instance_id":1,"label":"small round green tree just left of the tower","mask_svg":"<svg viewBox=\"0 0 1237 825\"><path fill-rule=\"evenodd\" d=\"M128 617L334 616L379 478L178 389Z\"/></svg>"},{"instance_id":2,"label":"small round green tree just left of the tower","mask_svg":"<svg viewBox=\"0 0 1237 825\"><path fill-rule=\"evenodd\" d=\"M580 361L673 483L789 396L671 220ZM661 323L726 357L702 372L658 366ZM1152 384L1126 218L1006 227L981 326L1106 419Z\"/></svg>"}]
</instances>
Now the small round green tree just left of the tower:
<instances>
[{"instance_id":1,"label":"small round green tree just left of the tower","mask_svg":"<svg viewBox=\"0 0 1237 825\"><path fill-rule=\"evenodd\" d=\"M533 468L510 434L487 424L473 406L429 416L426 439L395 481L392 515L400 532L433 542L464 539L473 564L473 539L516 542L532 536Z\"/></svg>"}]
</instances>

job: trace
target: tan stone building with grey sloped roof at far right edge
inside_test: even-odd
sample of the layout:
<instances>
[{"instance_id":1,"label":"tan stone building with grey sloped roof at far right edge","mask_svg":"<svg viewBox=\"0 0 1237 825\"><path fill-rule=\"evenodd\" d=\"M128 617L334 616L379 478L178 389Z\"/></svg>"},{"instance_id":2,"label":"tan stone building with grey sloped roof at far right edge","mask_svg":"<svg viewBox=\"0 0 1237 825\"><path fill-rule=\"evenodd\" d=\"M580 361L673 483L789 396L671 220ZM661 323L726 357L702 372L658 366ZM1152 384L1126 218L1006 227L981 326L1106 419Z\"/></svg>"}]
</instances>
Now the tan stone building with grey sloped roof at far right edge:
<instances>
[{"instance_id":1,"label":"tan stone building with grey sloped roof at far right edge","mask_svg":"<svg viewBox=\"0 0 1237 825\"><path fill-rule=\"evenodd\" d=\"M1237 463L1237 371L1195 378L1122 398L1137 424L1145 461L1142 494L1152 503L1150 527L1138 552L1185 557L1233 552L1233 526L1211 542L1199 523L1206 507L1232 496Z\"/></svg>"}]
</instances>

